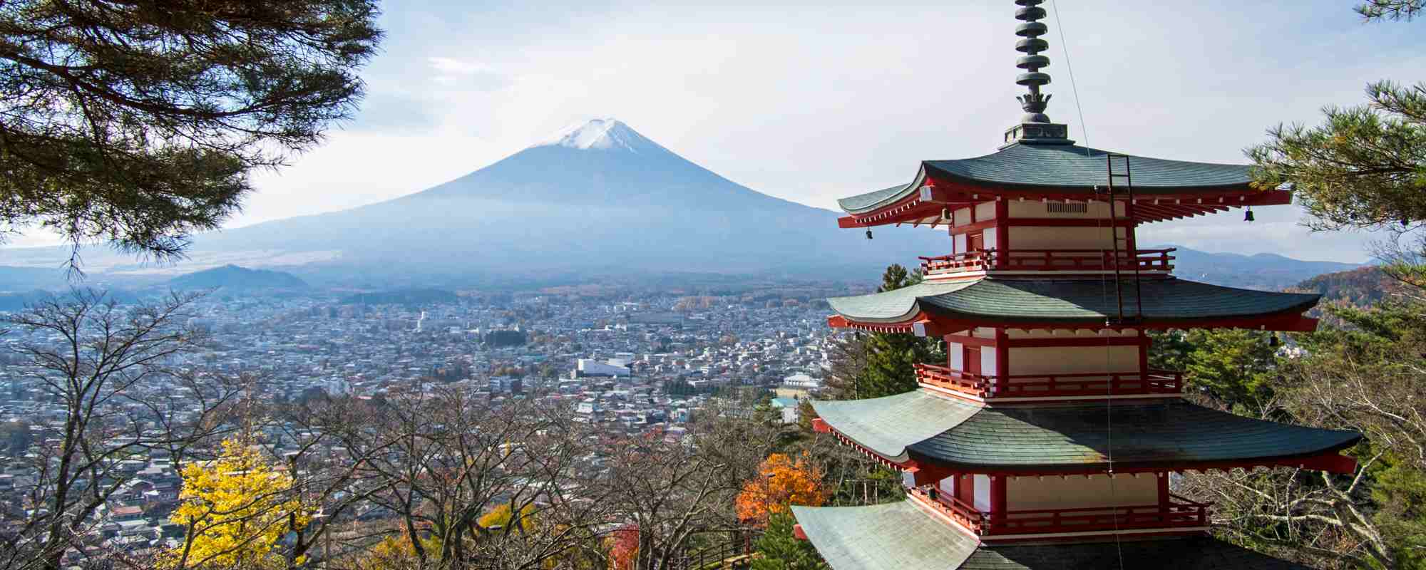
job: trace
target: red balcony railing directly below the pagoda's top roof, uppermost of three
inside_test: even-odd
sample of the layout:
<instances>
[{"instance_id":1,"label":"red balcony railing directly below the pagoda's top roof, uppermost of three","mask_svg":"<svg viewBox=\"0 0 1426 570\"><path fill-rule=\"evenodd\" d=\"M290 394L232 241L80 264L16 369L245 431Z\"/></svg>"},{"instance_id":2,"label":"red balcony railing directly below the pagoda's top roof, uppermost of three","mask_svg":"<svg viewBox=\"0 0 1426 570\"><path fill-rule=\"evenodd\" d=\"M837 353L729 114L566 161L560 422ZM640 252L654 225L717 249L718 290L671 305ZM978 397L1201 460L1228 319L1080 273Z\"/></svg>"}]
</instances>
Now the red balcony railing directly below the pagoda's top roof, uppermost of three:
<instances>
[{"instance_id":1,"label":"red balcony railing directly below the pagoda's top roof, uppermost of three","mask_svg":"<svg viewBox=\"0 0 1426 570\"><path fill-rule=\"evenodd\" d=\"M970 271L1174 271L1174 248L1169 249L974 249L964 254L921 258L924 275L954 275Z\"/></svg>"}]
</instances>

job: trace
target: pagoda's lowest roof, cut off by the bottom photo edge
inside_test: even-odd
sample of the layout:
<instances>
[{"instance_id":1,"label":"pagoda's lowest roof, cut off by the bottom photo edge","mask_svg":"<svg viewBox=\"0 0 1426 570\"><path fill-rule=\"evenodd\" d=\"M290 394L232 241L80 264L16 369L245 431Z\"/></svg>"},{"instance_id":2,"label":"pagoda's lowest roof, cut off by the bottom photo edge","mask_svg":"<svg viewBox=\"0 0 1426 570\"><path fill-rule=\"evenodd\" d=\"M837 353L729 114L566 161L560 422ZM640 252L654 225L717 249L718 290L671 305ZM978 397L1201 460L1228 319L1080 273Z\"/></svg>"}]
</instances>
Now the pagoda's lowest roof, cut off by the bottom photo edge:
<instances>
[{"instance_id":1,"label":"pagoda's lowest roof, cut off by the bottom photo edge","mask_svg":"<svg viewBox=\"0 0 1426 570\"><path fill-rule=\"evenodd\" d=\"M910 500L866 507L793 506L833 570L1308 570L1209 536L987 546ZM1122 561L1122 566L1121 566Z\"/></svg>"}]
</instances>

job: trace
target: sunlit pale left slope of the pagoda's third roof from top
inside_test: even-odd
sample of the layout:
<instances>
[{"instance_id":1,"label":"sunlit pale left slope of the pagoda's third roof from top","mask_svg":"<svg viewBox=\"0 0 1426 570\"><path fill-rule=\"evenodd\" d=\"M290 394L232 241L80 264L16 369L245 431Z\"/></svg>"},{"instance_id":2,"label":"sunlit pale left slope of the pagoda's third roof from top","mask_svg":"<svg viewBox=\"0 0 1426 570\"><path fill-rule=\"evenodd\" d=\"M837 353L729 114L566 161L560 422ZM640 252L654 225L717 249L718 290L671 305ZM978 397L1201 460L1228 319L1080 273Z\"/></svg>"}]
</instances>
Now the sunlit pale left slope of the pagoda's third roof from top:
<instances>
[{"instance_id":1,"label":"sunlit pale left slope of the pagoda's third roof from top","mask_svg":"<svg viewBox=\"0 0 1426 570\"><path fill-rule=\"evenodd\" d=\"M894 460L906 459L906 446L934 437L980 412L978 406L924 390L811 405L838 433Z\"/></svg>"}]
</instances>

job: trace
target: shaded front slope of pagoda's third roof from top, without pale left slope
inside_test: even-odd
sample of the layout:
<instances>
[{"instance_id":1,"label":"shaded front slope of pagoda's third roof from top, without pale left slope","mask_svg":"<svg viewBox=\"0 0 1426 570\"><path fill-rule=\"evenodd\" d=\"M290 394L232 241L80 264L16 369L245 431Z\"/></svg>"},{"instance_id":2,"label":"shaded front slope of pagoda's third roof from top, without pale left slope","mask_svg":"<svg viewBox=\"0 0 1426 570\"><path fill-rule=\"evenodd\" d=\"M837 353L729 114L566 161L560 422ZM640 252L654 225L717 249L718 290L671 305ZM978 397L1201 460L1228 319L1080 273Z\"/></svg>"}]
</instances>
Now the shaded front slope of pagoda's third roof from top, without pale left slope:
<instances>
[{"instance_id":1,"label":"shaded front slope of pagoda's third roof from top, without pale left slope","mask_svg":"<svg viewBox=\"0 0 1426 570\"><path fill-rule=\"evenodd\" d=\"M1112 409L1077 403L990 406L955 428L908 445L907 453L968 469L1075 472L1107 469L1111 453L1114 466L1122 469L1192 467L1335 452L1360 439L1350 430L1265 422L1182 400L1119 403Z\"/></svg>"}]
</instances>

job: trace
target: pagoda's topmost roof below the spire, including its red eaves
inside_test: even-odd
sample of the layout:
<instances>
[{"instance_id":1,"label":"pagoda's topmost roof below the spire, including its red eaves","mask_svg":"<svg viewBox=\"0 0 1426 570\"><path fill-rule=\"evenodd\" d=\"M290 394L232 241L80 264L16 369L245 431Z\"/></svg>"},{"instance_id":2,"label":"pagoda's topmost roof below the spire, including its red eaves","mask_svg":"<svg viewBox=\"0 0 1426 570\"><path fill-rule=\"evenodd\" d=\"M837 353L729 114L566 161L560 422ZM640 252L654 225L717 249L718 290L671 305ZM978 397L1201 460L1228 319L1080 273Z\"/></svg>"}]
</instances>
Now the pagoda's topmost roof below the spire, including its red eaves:
<instances>
[{"instance_id":1,"label":"pagoda's topmost roof below the spire, including its red eaves","mask_svg":"<svg viewBox=\"0 0 1426 570\"><path fill-rule=\"evenodd\" d=\"M1068 144L1011 142L977 158L923 161L910 184L838 201L848 214L843 228L887 224L948 225L947 209L998 200L1060 202L1108 201L1109 157L1115 201L1134 222L1154 222L1226 211L1238 207L1291 204L1285 190L1258 190L1252 167L1129 157ZM1124 158L1127 157L1127 158ZM1122 160L1121 160L1122 158ZM1128 167L1125 167L1125 164Z\"/></svg>"}]
</instances>

